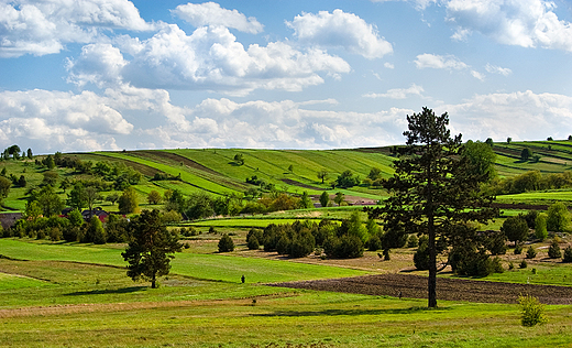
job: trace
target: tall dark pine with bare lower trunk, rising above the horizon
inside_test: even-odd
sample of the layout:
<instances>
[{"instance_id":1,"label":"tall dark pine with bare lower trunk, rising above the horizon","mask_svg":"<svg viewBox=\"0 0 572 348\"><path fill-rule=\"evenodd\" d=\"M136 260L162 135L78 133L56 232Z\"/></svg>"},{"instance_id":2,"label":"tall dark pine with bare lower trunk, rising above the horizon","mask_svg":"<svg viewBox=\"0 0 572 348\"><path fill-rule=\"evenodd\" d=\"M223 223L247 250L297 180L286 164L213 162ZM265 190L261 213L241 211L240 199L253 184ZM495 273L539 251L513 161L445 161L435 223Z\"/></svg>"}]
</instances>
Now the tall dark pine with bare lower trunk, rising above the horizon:
<instances>
[{"instance_id":1,"label":"tall dark pine with bare lower trunk, rising above the horizon","mask_svg":"<svg viewBox=\"0 0 572 348\"><path fill-rule=\"evenodd\" d=\"M393 233L427 235L429 251L429 307L437 306L438 246L453 240L454 227L469 221L486 222L497 213L492 197L480 194L487 180L462 155L461 134L451 138L449 116L431 109L407 116L406 145L397 149L395 175L384 181L392 196L380 208L367 209L371 218L383 218Z\"/></svg>"}]
</instances>

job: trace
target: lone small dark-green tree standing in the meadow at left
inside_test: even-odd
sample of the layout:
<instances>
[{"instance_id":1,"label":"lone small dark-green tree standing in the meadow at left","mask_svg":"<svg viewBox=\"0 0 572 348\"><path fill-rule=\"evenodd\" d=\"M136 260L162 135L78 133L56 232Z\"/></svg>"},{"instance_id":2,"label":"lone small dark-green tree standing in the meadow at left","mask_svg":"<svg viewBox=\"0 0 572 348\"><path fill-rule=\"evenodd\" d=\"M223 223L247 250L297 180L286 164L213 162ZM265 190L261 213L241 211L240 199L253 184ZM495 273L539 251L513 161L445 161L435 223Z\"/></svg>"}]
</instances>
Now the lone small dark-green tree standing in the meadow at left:
<instances>
[{"instance_id":1,"label":"lone small dark-green tree standing in the meadow at left","mask_svg":"<svg viewBox=\"0 0 572 348\"><path fill-rule=\"evenodd\" d=\"M129 222L133 236L121 255L129 262L128 275L133 281L140 279L151 281L151 287L156 289L157 276L167 275L170 270L173 253L180 252L183 244L178 235L168 231L161 222L158 210L143 210Z\"/></svg>"}]
</instances>

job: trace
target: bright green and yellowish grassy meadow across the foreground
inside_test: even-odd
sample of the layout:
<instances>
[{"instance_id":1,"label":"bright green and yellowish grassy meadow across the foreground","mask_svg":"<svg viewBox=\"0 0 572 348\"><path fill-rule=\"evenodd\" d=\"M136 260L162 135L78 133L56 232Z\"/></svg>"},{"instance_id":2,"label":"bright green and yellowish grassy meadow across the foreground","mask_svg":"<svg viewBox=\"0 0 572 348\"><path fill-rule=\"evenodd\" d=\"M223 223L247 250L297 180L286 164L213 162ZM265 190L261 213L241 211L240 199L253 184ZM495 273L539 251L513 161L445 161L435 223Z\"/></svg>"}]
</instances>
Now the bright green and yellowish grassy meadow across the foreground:
<instances>
[{"instance_id":1,"label":"bright green and yellowish grassy meadow across the foreground","mask_svg":"<svg viewBox=\"0 0 572 348\"><path fill-rule=\"evenodd\" d=\"M565 347L572 340L569 306L546 306L549 322L525 328L518 305L442 301L427 309L425 300L263 285L364 274L351 269L184 252L152 290L125 276L119 246L3 239L0 250L30 260L0 259L1 347ZM249 267L257 275L242 284L237 275Z\"/></svg>"}]
</instances>

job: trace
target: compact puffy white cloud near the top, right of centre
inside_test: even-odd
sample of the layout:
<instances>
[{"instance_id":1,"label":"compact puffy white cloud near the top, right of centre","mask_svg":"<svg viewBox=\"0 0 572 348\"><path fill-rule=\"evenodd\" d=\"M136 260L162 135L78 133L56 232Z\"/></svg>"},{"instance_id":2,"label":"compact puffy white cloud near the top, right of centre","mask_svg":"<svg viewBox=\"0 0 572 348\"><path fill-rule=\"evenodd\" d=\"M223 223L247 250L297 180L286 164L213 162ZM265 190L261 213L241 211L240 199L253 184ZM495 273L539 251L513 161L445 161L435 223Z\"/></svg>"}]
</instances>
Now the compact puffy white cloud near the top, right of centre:
<instances>
[{"instance_id":1,"label":"compact puffy white cloud near the top, right of centre","mask_svg":"<svg viewBox=\"0 0 572 348\"><path fill-rule=\"evenodd\" d=\"M393 52L392 44L380 36L374 25L342 10L302 13L286 24L294 29L295 36L305 44L343 47L369 59L381 58Z\"/></svg>"}]
</instances>

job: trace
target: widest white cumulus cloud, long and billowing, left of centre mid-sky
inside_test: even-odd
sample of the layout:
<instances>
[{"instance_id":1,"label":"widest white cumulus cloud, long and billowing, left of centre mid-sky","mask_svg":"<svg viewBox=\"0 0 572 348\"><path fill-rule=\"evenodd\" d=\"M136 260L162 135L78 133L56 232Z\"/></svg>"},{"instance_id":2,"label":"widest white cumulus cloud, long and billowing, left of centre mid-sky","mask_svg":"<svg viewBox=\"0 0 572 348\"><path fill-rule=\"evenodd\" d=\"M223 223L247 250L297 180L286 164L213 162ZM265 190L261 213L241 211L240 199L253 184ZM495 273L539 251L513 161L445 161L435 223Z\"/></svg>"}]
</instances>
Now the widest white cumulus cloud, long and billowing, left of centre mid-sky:
<instances>
[{"instance_id":1,"label":"widest white cumulus cloud, long and billowing, left of centre mid-sky","mask_svg":"<svg viewBox=\"0 0 572 348\"><path fill-rule=\"evenodd\" d=\"M109 44L84 47L80 57L69 61L70 80L246 95L257 88L301 90L322 84L320 73L350 72L345 61L319 48L299 51L284 42L245 48L224 26L201 26L187 35L170 24L144 41L123 37L121 45L130 61Z\"/></svg>"}]
</instances>

